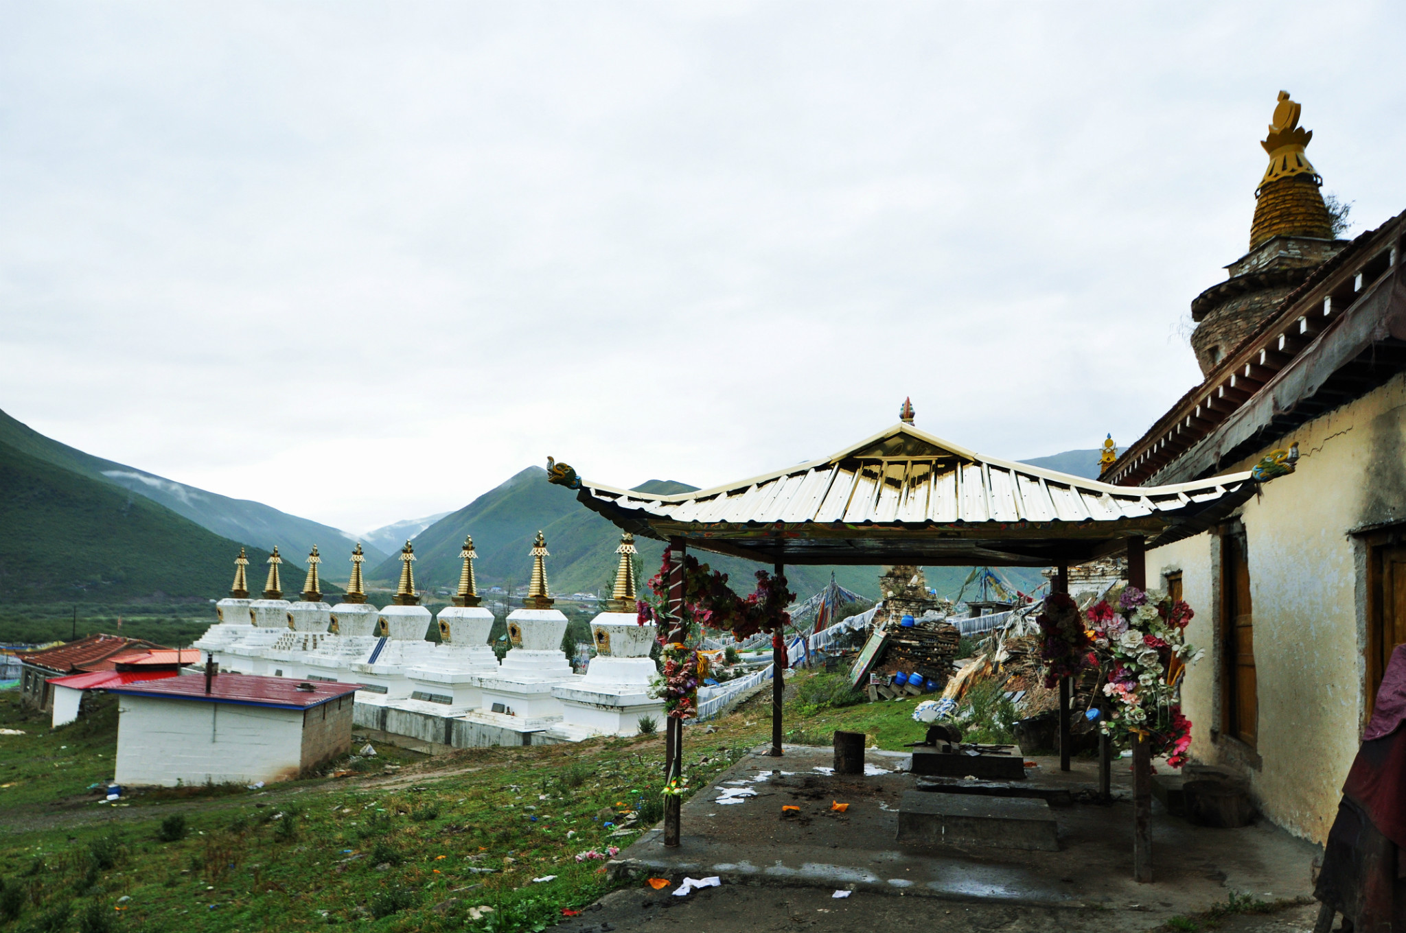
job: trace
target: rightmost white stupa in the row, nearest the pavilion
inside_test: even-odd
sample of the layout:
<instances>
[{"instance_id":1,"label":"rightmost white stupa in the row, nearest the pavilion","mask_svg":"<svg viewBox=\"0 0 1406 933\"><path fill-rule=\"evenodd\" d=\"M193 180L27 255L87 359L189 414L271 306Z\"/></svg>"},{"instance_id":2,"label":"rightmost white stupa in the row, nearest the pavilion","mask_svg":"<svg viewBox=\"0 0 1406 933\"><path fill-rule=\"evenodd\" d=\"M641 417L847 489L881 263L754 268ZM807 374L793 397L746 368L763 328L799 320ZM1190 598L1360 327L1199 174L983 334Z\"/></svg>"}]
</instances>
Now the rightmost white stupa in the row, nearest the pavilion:
<instances>
[{"instance_id":1,"label":"rightmost white stupa in the row, nearest the pavilion","mask_svg":"<svg viewBox=\"0 0 1406 933\"><path fill-rule=\"evenodd\" d=\"M634 535L620 537L620 566L607 611L591 622L596 656L579 683L557 684L551 696L561 701L561 725L554 738L579 740L592 735L636 735L640 719L664 722L664 701L651 697L651 681L658 676L650 649L655 625L641 625L636 611Z\"/></svg>"}]
</instances>

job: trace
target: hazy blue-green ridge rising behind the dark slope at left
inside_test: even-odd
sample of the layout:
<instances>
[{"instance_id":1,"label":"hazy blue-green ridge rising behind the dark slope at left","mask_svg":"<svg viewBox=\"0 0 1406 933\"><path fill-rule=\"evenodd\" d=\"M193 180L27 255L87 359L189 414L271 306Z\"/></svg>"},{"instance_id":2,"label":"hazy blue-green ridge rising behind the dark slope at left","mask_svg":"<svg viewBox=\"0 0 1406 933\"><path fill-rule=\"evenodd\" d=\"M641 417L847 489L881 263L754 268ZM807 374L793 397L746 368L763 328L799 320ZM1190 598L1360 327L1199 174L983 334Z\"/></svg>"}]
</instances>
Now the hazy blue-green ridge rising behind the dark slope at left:
<instances>
[{"instance_id":1,"label":"hazy blue-green ridge rising behind the dark slope at left","mask_svg":"<svg viewBox=\"0 0 1406 933\"><path fill-rule=\"evenodd\" d=\"M325 558L344 556L343 552L352 552L353 540L344 531L290 516L259 502L231 499L135 466L84 454L39 434L4 412L0 412L0 444L7 444L55 466L150 499L231 541L242 541L266 551L277 545L280 554L299 563L315 544ZM380 561L385 556L384 551L366 542L361 547L370 561ZM332 580L344 582L350 573L350 563L344 559L326 559L323 568L328 579Z\"/></svg>"}]
</instances>

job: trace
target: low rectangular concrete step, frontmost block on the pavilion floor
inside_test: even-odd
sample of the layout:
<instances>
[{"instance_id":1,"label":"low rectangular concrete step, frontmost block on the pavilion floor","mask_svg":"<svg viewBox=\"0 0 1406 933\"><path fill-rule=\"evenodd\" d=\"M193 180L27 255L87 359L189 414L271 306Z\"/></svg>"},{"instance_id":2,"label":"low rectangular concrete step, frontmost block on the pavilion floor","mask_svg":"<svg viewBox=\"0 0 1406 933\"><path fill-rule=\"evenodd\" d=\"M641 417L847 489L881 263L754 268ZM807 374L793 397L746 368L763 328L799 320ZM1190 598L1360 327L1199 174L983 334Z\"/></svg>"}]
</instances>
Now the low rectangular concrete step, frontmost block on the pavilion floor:
<instances>
[{"instance_id":1,"label":"low rectangular concrete step, frontmost block on the pavilion floor","mask_svg":"<svg viewBox=\"0 0 1406 933\"><path fill-rule=\"evenodd\" d=\"M898 843L1059 852L1059 833L1042 800L904 791Z\"/></svg>"}]
</instances>

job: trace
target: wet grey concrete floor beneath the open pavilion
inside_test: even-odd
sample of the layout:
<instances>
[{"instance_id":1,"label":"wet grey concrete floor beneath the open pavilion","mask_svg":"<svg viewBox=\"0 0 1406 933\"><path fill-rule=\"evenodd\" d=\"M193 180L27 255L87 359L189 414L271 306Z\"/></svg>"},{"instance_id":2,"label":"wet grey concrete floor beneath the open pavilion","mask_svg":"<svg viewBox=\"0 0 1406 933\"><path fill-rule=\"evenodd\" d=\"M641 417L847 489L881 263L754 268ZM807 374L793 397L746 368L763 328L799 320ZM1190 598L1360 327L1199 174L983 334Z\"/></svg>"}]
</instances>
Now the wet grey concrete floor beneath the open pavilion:
<instances>
[{"instance_id":1,"label":"wet grey concrete floor beneath the open pavilion","mask_svg":"<svg viewBox=\"0 0 1406 933\"><path fill-rule=\"evenodd\" d=\"M1076 802L1052 809L1059 826L1059 852L920 850L894 842L898 801L914 787L914 777L907 773L832 777L814 770L832 764L832 757L830 749L803 746L786 746L782 759L749 755L685 804L678 849L665 849L661 830L654 829L623 852L612 871L634 878L668 877L675 882L685 875L718 875L724 887L810 888L804 894L786 894L810 899L848 889L855 892L848 909L859 903L859 894L884 894L903 895L908 905L907 898L924 896L1001 909L1133 911L1132 925L1140 929L1225 903L1230 892L1271 902L1312 894L1309 867L1317 852L1315 846L1268 823L1230 830L1191 826L1167 815L1160 804L1154 805L1152 822L1154 880L1133 882L1126 762L1115 763L1115 798L1121 800L1112 805ZM889 770L903 757L869 752L868 760ZM1062 773L1057 759L1033 760L1040 767L1029 770L1031 784L1091 795L1095 762L1078 760L1071 771ZM718 804L720 790L728 787L745 787L755 795L744 797L741 804ZM848 811L832 811L834 801L848 802ZM800 809L783 815L783 805ZM718 891L710 891L709 896L720 896ZM924 908L924 916L931 916L932 909ZM808 919L820 922L827 916L817 913Z\"/></svg>"}]
</instances>

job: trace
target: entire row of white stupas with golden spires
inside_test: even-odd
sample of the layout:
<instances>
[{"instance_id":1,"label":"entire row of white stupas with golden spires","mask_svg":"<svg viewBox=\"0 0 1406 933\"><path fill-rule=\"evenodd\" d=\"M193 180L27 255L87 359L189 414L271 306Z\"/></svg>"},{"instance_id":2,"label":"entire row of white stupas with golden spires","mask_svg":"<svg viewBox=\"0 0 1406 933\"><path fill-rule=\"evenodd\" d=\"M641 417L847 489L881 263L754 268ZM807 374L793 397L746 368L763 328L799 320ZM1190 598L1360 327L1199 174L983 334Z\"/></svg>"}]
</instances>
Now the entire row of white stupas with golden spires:
<instances>
[{"instance_id":1,"label":"entire row of white stupas with golden spires","mask_svg":"<svg viewBox=\"0 0 1406 933\"><path fill-rule=\"evenodd\" d=\"M561 639L567 617L547 596L547 547L541 533L531 549L533 570L524 607L508 615L512 648L499 663L488 646L494 615L479 607L472 538L464 540L464 568L453 606L437 620L415 592L415 552L401 551L401 580L391 606L366 601L361 545L352 552L352 579L343 601L322 601L318 549L308 555L299 601L283 599L274 548L263 599L249 599L243 549L235 585L219 600L219 621L194 642L222 670L304 680L363 684L356 722L364 728L454 746L546 743L592 735L636 735L640 719L662 717L648 696L655 676L650 648L654 625L636 618L636 552L626 534L616 549L613 599L591 622L598 655L585 674L572 673ZM426 641L439 622L440 644Z\"/></svg>"}]
</instances>

